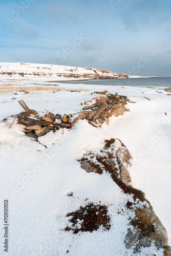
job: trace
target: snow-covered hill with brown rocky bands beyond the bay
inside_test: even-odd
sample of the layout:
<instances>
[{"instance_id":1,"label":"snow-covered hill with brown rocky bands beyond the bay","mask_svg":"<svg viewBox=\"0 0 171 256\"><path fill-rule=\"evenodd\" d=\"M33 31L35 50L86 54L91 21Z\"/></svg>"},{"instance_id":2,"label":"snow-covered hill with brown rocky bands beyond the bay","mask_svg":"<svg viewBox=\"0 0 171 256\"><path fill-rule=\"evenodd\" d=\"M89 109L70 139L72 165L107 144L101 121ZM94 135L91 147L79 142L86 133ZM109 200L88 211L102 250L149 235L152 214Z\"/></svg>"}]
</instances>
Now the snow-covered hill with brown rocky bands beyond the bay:
<instances>
[{"instance_id":1,"label":"snow-covered hill with brown rocky bands beyond the bay","mask_svg":"<svg viewBox=\"0 0 171 256\"><path fill-rule=\"evenodd\" d=\"M0 80L21 79L34 81L63 81L104 78L133 78L133 76L114 73L104 69L78 68L35 63L0 62Z\"/></svg>"}]
</instances>

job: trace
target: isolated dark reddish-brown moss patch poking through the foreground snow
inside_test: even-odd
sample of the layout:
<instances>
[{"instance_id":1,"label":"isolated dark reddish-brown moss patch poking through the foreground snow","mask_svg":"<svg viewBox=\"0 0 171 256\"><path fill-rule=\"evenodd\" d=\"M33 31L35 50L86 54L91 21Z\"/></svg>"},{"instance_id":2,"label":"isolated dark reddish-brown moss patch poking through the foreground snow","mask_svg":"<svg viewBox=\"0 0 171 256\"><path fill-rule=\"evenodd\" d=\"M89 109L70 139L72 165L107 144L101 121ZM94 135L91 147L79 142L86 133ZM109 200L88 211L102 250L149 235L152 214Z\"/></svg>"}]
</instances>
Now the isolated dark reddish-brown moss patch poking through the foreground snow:
<instances>
[{"instance_id":1,"label":"isolated dark reddish-brown moss patch poking through the foreground snow","mask_svg":"<svg viewBox=\"0 0 171 256\"><path fill-rule=\"evenodd\" d=\"M105 205L94 205L93 203L89 203L85 207L80 207L79 210L71 212L67 215L67 217L72 216L71 220L72 227L66 227L65 230L72 230L73 233L78 233L79 231L89 231L97 230L100 226L103 226L103 230L109 230L110 225L110 217L107 215L108 207ZM78 223L77 220L82 221L81 227L76 227Z\"/></svg>"}]
</instances>

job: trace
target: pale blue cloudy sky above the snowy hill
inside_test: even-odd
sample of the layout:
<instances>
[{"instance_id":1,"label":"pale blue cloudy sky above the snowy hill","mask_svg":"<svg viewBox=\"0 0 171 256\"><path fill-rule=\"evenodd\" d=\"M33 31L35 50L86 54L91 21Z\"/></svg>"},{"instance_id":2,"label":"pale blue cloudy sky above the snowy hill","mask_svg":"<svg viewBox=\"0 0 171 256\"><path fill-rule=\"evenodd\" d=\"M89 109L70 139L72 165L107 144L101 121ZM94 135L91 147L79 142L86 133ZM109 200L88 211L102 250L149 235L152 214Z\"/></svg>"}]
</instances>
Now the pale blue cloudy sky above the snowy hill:
<instances>
[{"instance_id":1,"label":"pale blue cloudy sky above the snowy hill","mask_svg":"<svg viewBox=\"0 0 171 256\"><path fill-rule=\"evenodd\" d=\"M170 0L0 0L0 62L171 77Z\"/></svg>"}]
</instances>

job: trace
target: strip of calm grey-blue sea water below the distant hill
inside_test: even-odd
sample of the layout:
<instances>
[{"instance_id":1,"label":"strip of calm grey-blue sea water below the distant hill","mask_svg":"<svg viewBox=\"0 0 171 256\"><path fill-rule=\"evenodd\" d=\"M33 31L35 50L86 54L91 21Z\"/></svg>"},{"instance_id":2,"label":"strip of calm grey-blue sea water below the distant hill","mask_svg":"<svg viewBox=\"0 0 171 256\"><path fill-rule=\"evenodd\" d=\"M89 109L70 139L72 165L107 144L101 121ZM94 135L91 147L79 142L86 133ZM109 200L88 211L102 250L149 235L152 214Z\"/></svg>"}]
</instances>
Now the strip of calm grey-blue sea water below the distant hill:
<instances>
[{"instance_id":1,"label":"strip of calm grey-blue sea water below the distant hill","mask_svg":"<svg viewBox=\"0 0 171 256\"><path fill-rule=\"evenodd\" d=\"M63 83L99 84L105 86L171 87L171 77L97 79L86 81L63 81Z\"/></svg>"}]
</instances>

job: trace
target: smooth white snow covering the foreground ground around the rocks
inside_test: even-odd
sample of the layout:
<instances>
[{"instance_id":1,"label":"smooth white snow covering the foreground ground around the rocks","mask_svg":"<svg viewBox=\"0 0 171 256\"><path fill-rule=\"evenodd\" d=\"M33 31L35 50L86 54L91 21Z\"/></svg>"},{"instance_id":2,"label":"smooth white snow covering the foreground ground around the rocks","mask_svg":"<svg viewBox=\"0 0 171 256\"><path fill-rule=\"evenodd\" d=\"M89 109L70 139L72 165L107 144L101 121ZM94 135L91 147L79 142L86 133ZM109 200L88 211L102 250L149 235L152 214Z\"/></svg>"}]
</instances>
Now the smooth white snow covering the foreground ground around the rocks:
<instances>
[{"instance_id":1,"label":"smooth white snow covering the foreground ground around the rocks","mask_svg":"<svg viewBox=\"0 0 171 256\"><path fill-rule=\"evenodd\" d=\"M0 120L22 112L18 104L20 99L24 99L31 109L39 112L47 109L54 114L79 112L80 103L92 99L94 91L118 92L136 103L127 103L130 112L113 116L110 123L104 123L101 128L80 120L74 130L65 129L62 134L61 129L40 137L39 141L47 149L26 137L16 121L9 129L13 118L0 123L0 254L6 255L2 230L3 204L8 199L10 256L133 255L132 249L126 249L124 244L129 220L117 214L131 196L123 194L108 175L86 173L77 161L84 153L102 148L104 139L114 137L130 151L131 183L146 194L167 230L168 245L171 245L171 96L162 88L63 84L61 91L57 86L51 86L49 91L34 91L33 87L30 85L28 94L18 92L20 86L14 87L13 92L2 93ZM25 89L24 84L22 88ZM69 191L73 191L72 197L67 196ZM84 206L86 199L108 205L112 222L109 231L100 229L73 234L62 230L68 224L67 212ZM163 255L163 250L156 251L151 246L143 248L138 255L153 256L154 253Z\"/></svg>"}]
</instances>

